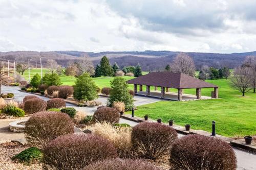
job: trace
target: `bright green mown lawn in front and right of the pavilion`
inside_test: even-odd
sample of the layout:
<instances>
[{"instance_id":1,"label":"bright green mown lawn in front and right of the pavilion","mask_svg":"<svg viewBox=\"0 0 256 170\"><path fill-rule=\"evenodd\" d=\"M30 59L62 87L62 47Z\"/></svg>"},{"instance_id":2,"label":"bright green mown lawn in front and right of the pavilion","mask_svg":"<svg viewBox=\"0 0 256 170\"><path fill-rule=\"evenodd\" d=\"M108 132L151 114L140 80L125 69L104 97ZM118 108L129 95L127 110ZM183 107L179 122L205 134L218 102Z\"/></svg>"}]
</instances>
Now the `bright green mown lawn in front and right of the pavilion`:
<instances>
[{"instance_id":1,"label":"bright green mown lawn in front and right of the pavilion","mask_svg":"<svg viewBox=\"0 0 256 170\"><path fill-rule=\"evenodd\" d=\"M256 93L252 91L241 96L230 87L230 80L207 80L221 86L219 97L223 99L187 101L187 102L157 102L139 106L136 116L149 115L152 119L162 118L167 123L169 119L175 124L184 126L190 124L191 129L211 131L212 120L216 121L217 134L224 136L256 135ZM210 96L212 89L203 89L202 95ZM195 94L195 89L186 89L185 93ZM131 113L130 113L131 114Z\"/></svg>"}]
</instances>

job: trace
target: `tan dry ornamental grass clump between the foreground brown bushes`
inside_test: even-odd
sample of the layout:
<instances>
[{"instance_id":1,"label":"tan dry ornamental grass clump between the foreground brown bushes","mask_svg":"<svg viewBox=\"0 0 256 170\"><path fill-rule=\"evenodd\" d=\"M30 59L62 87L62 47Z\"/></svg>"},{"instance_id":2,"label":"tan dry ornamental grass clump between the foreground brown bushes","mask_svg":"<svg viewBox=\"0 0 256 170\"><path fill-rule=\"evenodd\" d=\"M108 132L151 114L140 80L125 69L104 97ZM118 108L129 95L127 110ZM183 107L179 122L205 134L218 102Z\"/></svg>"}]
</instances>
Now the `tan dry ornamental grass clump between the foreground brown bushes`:
<instances>
[{"instance_id":1,"label":"tan dry ornamental grass clump between the foreground brown bushes","mask_svg":"<svg viewBox=\"0 0 256 170\"><path fill-rule=\"evenodd\" d=\"M117 149L119 157L129 155L131 151L131 131L130 127L113 127L110 123L96 123L88 129L96 135L102 136L113 143Z\"/></svg>"}]
</instances>

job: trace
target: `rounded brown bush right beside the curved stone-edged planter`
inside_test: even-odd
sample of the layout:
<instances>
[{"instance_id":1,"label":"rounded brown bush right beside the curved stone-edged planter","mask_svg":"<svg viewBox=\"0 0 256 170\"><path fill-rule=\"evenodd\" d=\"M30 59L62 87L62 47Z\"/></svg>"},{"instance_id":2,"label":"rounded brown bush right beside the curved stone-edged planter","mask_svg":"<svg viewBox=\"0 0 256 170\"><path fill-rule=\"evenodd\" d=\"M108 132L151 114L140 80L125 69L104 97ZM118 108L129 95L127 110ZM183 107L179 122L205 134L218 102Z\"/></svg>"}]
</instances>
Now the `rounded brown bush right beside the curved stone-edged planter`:
<instances>
[{"instance_id":1,"label":"rounded brown bush right beside the curved stone-edged planter","mask_svg":"<svg viewBox=\"0 0 256 170\"><path fill-rule=\"evenodd\" d=\"M26 122L25 134L29 144L44 148L61 135L74 133L74 124L67 114L42 111L31 116Z\"/></svg>"}]
</instances>

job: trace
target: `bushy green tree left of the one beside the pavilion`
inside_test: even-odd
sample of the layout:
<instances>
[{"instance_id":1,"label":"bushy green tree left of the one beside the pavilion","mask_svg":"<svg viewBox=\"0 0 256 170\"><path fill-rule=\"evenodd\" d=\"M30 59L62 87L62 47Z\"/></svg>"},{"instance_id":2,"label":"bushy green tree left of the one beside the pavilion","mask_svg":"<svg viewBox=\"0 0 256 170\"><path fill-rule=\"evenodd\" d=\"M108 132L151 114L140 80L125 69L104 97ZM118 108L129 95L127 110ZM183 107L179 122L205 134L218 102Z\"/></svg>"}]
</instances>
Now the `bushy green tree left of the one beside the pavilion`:
<instances>
[{"instance_id":1,"label":"bushy green tree left of the one beside the pavilion","mask_svg":"<svg viewBox=\"0 0 256 170\"><path fill-rule=\"evenodd\" d=\"M74 99L86 102L97 99L97 89L97 85L86 72L76 78L73 93Z\"/></svg>"}]
</instances>

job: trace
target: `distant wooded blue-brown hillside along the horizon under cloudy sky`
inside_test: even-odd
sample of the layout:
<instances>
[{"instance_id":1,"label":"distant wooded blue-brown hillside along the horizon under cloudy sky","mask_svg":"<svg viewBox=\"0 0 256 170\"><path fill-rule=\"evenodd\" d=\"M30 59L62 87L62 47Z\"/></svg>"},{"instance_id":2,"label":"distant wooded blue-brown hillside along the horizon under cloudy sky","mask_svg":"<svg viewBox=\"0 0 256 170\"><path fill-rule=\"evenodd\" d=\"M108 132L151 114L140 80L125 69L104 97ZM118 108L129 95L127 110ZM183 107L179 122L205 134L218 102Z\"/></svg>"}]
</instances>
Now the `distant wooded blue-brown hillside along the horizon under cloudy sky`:
<instances>
[{"instance_id":1,"label":"distant wooded blue-brown hillside along the horizon under cloudy sky","mask_svg":"<svg viewBox=\"0 0 256 170\"><path fill-rule=\"evenodd\" d=\"M91 57L94 64L99 63L102 56L110 58L110 62L117 63L121 68L126 65L141 65L143 70L159 70L173 61L173 58L180 52L171 51L144 51L144 52L78 52L78 51L54 51L54 52L0 52L3 59L18 61L21 56L27 57L31 63L39 62L40 56L44 64L47 59L54 59L60 65L67 66L69 60L78 60L83 54ZM197 68L202 65L230 68L241 65L246 56L256 56L256 52L248 53L232 53L232 54L218 54L218 53L187 53L191 56Z\"/></svg>"}]
</instances>

